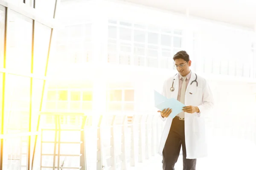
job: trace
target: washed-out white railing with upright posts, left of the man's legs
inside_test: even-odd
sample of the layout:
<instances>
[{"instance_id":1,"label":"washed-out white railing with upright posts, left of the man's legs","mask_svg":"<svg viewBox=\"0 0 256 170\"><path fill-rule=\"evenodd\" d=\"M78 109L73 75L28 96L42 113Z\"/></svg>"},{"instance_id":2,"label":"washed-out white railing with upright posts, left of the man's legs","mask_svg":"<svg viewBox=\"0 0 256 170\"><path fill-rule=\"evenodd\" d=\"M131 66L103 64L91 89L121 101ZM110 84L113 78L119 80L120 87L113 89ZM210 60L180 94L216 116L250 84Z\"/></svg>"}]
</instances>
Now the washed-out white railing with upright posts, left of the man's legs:
<instances>
[{"instance_id":1,"label":"washed-out white railing with upright posts, left of the man's legs","mask_svg":"<svg viewBox=\"0 0 256 170\"><path fill-rule=\"evenodd\" d=\"M61 122L64 117L70 121ZM33 169L128 170L137 167L138 162L156 155L163 125L157 113L133 116L41 113L41 137L38 136L37 142L41 156L35 156L41 163ZM78 129L81 133L67 133Z\"/></svg>"}]
</instances>

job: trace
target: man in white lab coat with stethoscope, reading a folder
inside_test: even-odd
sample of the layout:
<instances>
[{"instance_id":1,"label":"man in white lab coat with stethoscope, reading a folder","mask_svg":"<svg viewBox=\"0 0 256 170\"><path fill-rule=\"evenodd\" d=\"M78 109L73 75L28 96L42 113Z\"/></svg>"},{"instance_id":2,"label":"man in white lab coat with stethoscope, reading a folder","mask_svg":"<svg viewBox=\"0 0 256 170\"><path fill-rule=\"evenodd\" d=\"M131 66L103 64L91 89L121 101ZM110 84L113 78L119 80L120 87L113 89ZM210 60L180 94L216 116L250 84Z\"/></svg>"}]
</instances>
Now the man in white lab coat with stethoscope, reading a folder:
<instances>
[{"instance_id":1,"label":"man in white lab coat with stethoscope, reading a folder","mask_svg":"<svg viewBox=\"0 0 256 170\"><path fill-rule=\"evenodd\" d=\"M158 111L166 121L159 153L163 155L163 170L175 170L182 146L183 170L195 170L196 159L207 156L204 116L213 106L213 97L206 80L190 70L186 51L177 52L173 59L178 74L164 82L162 94L186 106L174 119L169 117L171 108Z\"/></svg>"}]
</instances>

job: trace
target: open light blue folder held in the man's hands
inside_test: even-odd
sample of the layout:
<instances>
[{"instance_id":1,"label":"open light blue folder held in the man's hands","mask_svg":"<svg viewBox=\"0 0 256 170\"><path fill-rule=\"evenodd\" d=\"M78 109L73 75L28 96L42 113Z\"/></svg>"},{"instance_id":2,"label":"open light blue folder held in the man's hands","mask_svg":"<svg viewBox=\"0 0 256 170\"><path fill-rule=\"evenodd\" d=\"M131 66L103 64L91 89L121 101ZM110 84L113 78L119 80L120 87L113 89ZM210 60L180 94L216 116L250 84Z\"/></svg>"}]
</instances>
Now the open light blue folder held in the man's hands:
<instances>
[{"instance_id":1,"label":"open light blue folder held in the man's hands","mask_svg":"<svg viewBox=\"0 0 256 170\"><path fill-rule=\"evenodd\" d=\"M185 106L183 103L177 101L174 98L167 99L165 96L158 93L157 91L154 91L154 101L155 107L158 108L160 111L163 111L163 109L167 108L172 109L172 113L169 115L172 118L182 112L182 109Z\"/></svg>"}]
</instances>

